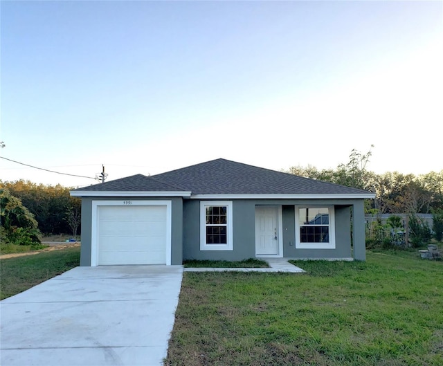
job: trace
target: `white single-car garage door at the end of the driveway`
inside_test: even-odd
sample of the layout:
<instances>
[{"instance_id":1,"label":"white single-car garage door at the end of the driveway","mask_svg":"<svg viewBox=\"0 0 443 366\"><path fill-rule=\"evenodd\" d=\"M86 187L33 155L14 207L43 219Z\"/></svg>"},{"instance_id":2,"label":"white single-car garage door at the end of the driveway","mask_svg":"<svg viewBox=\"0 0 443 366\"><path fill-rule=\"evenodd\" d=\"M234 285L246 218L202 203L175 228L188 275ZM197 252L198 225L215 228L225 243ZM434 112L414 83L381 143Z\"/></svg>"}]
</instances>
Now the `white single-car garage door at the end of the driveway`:
<instances>
[{"instance_id":1,"label":"white single-car garage door at the end of the driveway","mask_svg":"<svg viewBox=\"0 0 443 366\"><path fill-rule=\"evenodd\" d=\"M166 205L98 207L98 264L165 264Z\"/></svg>"}]
</instances>

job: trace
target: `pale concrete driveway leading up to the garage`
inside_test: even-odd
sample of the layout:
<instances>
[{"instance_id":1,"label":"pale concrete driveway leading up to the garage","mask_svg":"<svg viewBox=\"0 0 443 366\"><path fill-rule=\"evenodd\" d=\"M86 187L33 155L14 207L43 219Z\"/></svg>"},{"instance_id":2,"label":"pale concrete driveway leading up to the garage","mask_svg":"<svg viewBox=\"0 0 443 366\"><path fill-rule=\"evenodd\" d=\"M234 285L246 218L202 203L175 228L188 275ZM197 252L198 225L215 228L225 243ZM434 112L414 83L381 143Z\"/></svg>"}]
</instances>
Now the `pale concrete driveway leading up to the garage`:
<instances>
[{"instance_id":1,"label":"pale concrete driveway leading up to the garage","mask_svg":"<svg viewBox=\"0 0 443 366\"><path fill-rule=\"evenodd\" d=\"M2 366L159 366L182 266L77 267L0 302Z\"/></svg>"}]
</instances>

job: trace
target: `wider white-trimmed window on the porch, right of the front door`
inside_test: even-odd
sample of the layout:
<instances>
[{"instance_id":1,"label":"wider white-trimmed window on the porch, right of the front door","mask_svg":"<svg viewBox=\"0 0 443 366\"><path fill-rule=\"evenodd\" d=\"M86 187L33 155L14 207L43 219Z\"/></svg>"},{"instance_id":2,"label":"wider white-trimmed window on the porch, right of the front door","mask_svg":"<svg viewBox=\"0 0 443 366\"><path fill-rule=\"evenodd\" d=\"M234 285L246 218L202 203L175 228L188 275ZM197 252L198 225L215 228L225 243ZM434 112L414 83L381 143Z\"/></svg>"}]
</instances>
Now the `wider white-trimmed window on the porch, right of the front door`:
<instances>
[{"instance_id":1,"label":"wider white-trimmed window on the porch, right of the front door","mask_svg":"<svg viewBox=\"0 0 443 366\"><path fill-rule=\"evenodd\" d=\"M335 248L334 206L296 207L296 248Z\"/></svg>"}]
</instances>

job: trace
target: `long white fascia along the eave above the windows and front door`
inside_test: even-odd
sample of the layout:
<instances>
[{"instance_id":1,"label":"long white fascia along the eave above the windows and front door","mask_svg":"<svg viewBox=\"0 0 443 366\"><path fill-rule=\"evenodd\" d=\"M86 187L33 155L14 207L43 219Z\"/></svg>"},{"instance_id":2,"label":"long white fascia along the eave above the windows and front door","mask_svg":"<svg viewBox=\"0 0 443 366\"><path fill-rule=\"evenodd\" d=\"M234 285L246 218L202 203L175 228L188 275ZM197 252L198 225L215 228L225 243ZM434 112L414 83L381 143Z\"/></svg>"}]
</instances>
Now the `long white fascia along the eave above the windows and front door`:
<instances>
[{"instance_id":1,"label":"long white fascia along the eave above the windows and front door","mask_svg":"<svg viewBox=\"0 0 443 366\"><path fill-rule=\"evenodd\" d=\"M354 194L193 194L191 199L374 199L368 192Z\"/></svg>"}]
</instances>

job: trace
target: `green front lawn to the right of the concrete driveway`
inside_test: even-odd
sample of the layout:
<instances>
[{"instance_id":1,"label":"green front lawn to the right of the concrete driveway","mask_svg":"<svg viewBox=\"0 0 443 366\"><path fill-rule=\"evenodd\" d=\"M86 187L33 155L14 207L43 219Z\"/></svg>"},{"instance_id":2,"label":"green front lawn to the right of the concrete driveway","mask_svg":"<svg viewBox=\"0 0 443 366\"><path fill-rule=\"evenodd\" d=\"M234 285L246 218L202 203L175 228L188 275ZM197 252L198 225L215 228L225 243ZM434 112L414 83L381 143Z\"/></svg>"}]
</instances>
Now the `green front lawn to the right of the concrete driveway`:
<instances>
[{"instance_id":1,"label":"green front lawn to the right of the concrete driveway","mask_svg":"<svg viewBox=\"0 0 443 366\"><path fill-rule=\"evenodd\" d=\"M293 263L307 273L184 273L165 364L443 365L443 262Z\"/></svg>"}]
</instances>

